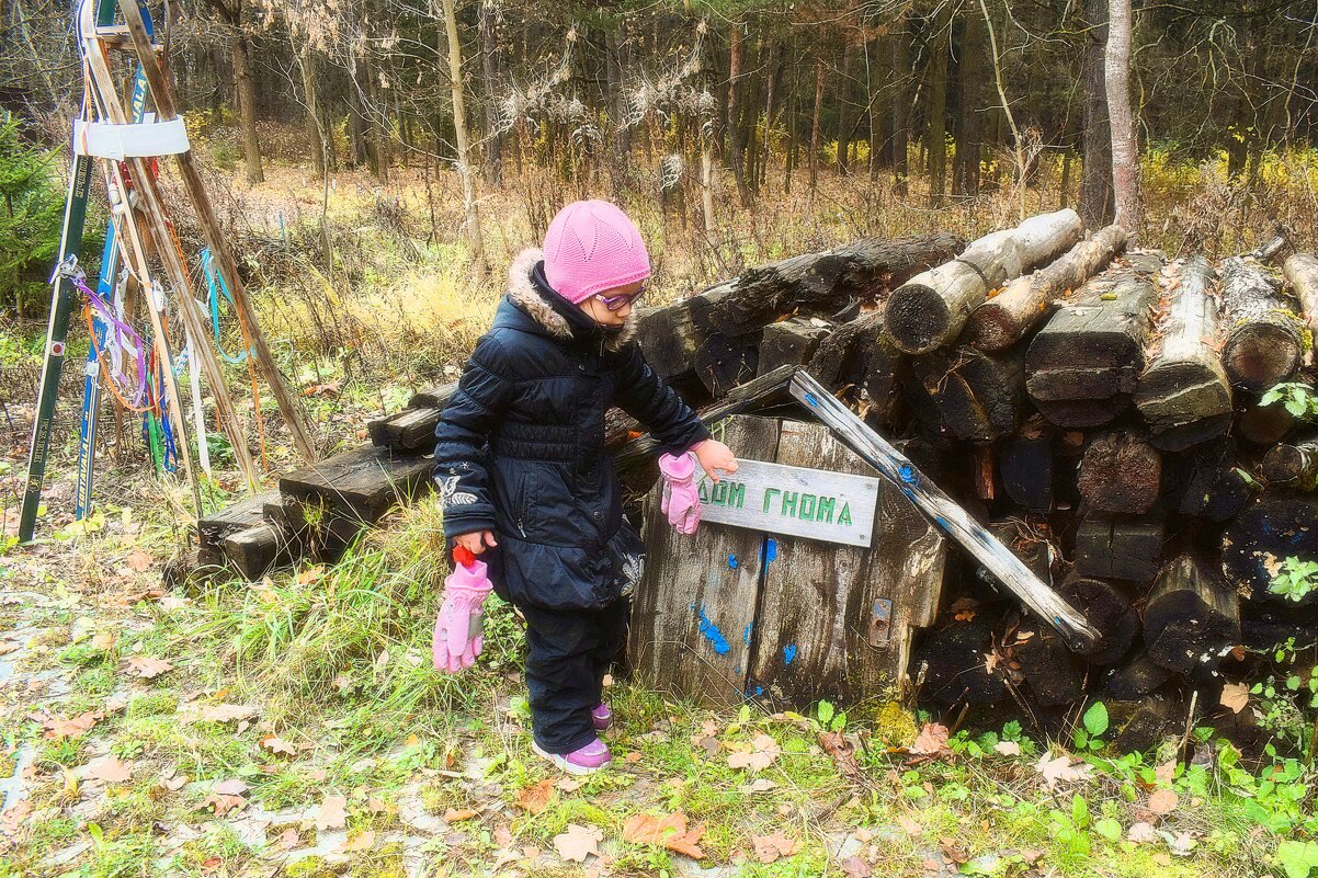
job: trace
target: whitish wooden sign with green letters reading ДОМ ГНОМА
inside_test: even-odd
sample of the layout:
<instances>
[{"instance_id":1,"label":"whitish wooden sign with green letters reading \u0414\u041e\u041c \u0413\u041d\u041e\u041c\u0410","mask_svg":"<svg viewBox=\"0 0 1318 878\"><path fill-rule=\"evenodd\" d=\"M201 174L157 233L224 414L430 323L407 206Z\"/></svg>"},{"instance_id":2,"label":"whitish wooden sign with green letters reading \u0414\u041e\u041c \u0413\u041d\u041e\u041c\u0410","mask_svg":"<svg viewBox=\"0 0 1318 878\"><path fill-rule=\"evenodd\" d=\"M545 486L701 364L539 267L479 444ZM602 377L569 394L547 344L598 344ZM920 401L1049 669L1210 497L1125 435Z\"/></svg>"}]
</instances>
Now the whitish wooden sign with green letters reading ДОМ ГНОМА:
<instances>
[{"instance_id":1,"label":"whitish wooden sign with green letters reading \u0414\u041e\u041c \u0413\u041d\u041e\u041c\u0410","mask_svg":"<svg viewBox=\"0 0 1318 878\"><path fill-rule=\"evenodd\" d=\"M738 460L735 475L700 483L701 521L869 547L879 480Z\"/></svg>"}]
</instances>

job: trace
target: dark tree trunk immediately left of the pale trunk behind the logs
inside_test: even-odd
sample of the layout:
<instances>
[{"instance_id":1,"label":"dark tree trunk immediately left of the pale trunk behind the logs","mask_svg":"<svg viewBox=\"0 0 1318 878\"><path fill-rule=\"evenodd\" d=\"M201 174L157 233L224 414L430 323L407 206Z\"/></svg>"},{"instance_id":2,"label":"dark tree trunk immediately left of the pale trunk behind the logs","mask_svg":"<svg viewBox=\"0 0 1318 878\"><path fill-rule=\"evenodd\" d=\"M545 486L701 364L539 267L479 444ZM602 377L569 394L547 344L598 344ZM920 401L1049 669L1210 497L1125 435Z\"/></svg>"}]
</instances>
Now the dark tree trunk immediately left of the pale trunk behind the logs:
<instances>
[{"instance_id":1,"label":"dark tree trunk immediately left of the pale trunk behind the logs","mask_svg":"<svg viewBox=\"0 0 1318 878\"><path fill-rule=\"evenodd\" d=\"M1107 119L1103 49L1107 45L1107 0L1085 0L1089 30L1082 36L1085 156L1081 166L1079 215L1090 228L1112 221L1112 132Z\"/></svg>"}]
</instances>

